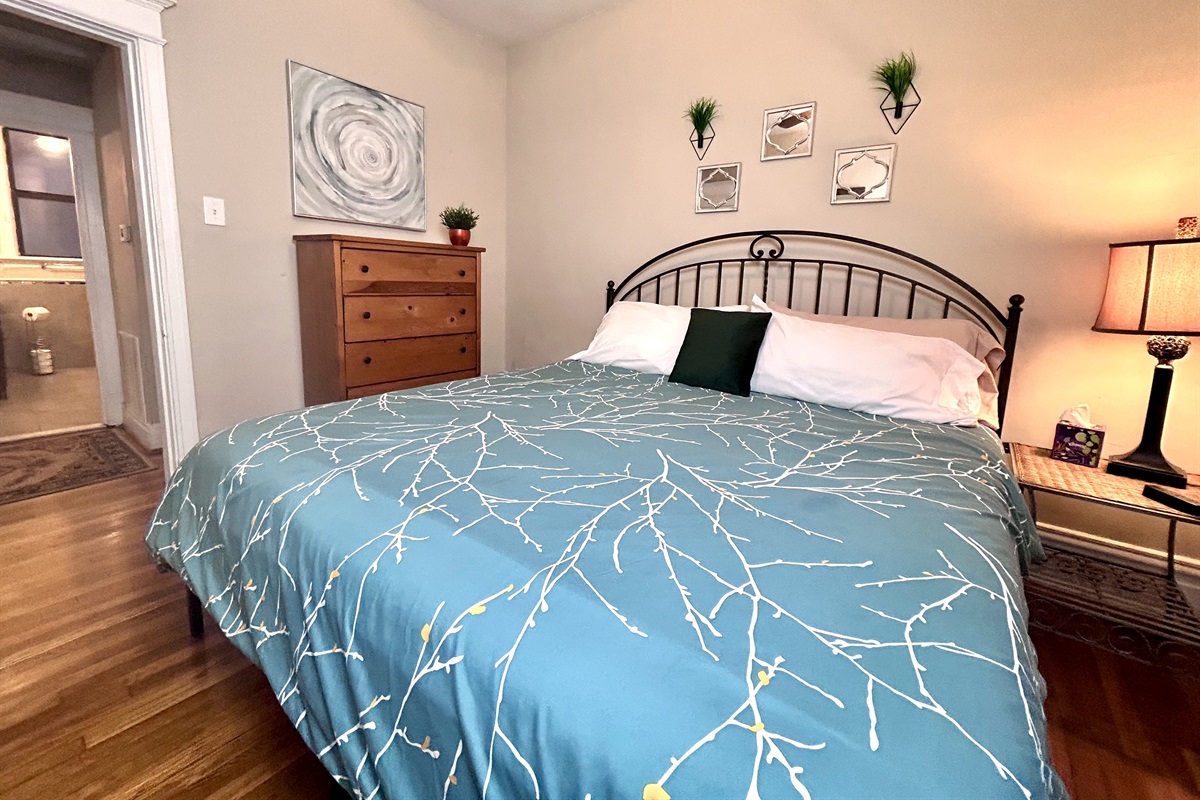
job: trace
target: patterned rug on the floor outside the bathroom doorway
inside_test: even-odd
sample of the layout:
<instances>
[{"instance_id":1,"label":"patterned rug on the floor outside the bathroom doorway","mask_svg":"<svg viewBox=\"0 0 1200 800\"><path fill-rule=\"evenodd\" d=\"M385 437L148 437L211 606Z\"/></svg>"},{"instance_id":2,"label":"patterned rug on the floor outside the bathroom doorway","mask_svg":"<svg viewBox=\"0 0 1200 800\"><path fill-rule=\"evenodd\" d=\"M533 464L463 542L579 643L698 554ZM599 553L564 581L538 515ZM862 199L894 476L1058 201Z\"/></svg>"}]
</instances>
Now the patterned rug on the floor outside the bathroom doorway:
<instances>
[{"instance_id":1,"label":"patterned rug on the floor outside the bathroom doorway","mask_svg":"<svg viewBox=\"0 0 1200 800\"><path fill-rule=\"evenodd\" d=\"M108 428L10 441L0 444L0 505L151 468Z\"/></svg>"}]
</instances>

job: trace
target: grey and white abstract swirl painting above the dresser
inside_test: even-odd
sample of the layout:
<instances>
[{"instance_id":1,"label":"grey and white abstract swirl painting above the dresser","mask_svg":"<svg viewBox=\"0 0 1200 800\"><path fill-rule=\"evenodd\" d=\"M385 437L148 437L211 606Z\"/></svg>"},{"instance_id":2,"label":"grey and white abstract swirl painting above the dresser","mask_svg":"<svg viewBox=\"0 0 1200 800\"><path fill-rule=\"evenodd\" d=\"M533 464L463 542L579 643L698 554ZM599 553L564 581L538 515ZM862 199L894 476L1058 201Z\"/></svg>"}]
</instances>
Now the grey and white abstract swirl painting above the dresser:
<instances>
[{"instance_id":1,"label":"grey and white abstract swirl painting above the dresser","mask_svg":"<svg viewBox=\"0 0 1200 800\"><path fill-rule=\"evenodd\" d=\"M288 61L298 217L425 230L425 108Z\"/></svg>"}]
</instances>

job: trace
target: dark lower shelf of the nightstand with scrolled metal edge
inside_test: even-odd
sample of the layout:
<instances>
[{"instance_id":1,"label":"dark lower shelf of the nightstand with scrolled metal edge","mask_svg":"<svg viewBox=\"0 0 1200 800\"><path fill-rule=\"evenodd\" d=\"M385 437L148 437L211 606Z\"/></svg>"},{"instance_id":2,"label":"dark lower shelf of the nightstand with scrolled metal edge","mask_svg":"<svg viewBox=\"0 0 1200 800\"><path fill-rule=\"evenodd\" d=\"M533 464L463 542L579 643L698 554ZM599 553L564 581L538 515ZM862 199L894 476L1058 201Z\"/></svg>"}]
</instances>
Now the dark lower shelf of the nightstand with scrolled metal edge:
<instances>
[{"instance_id":1,"label":"dark lower shelf of the nightstand with scrolled metal edge","mask_svg":"<svg viewBox=\"0 0 1200 800\"><path fill-rule=\"evenodd\" d=\"M1045 549L1025 579L1031 625L1200 678L1200 619L1172 581Z\"/></svg>"}]
</instances>

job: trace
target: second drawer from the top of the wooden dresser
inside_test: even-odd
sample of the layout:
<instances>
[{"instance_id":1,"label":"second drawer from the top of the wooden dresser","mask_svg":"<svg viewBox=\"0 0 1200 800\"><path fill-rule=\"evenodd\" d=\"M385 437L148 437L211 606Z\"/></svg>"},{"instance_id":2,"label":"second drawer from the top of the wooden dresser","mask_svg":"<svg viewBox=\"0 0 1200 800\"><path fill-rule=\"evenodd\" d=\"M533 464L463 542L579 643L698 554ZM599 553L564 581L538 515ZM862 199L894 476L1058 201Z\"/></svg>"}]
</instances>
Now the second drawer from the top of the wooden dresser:
<instances>
[{"instance_id":1,"label":"second drawer from the top of the wooden dresser","mask_svg":"<svg viewBox=\"0 0 1200 800\"><path fill-rule=\"evenodd\" d=\"M476 330L474 295L346 297L347 342L474 333Z\"/></svg>"}]
</instances>

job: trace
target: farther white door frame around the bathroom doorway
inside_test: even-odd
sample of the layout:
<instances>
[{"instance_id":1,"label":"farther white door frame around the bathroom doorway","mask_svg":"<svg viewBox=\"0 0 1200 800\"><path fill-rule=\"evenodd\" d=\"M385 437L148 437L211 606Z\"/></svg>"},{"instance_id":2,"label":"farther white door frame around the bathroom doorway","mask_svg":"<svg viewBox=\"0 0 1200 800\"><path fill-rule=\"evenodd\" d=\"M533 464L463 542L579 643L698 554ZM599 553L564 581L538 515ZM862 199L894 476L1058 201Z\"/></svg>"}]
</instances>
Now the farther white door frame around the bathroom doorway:
<instances>
[{"instance_id":1,"label":"farther white door frame around the bathroom doorway","mask_svg":"<svg viewBox=\"0 0 1200 800\"><path fill-rule=\"evenodd\" d=\"M0 91L0 125L59 136L71 142L79 249L83 253L91 339L96 353L96 374L100 378L100 416L104 425L120 425L125 415L121 357L116 344L116 312L113 307L113 281L108 271L108 243L104 237L91 109Z\"/></svg>"}]
</instances>

